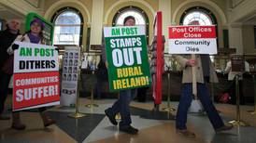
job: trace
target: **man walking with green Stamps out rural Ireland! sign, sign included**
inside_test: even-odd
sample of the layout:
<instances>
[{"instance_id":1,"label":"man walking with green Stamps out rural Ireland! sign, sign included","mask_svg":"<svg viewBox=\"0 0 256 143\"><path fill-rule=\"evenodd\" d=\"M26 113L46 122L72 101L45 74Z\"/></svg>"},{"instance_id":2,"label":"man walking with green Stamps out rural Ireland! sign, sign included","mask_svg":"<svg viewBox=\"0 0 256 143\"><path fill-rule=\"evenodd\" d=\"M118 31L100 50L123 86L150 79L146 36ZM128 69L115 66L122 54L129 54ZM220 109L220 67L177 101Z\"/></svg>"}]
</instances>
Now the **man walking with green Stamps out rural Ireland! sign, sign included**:
<instances>
[{"instance_id":1,"label":"man walking with green Stamps out rural Ireland! sign, sign included","mask_svg":"<svg viewBox=\"0 0 256 143\"><path fill-rule=\"evenodd\" d=\"M121 112L120 130L137 134L138 130L131 126L129 104L135 88L151 84L146 35L144 27L135 26L132 16L126 17L123 24L125 27L104 28L109 89L120 91L119 100L105 112L114 125L118 124L115 115Z\"/></svg>"}]
</instances>

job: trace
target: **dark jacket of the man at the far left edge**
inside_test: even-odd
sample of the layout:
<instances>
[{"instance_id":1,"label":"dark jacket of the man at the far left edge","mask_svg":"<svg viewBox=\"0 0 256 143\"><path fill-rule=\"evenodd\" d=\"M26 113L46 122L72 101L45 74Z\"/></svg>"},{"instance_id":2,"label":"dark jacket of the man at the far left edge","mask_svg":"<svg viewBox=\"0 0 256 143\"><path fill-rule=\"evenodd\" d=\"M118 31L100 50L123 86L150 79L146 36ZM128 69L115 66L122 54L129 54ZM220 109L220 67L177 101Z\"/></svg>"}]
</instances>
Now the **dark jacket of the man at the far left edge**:
<instances>
[{"instance_id":1,"label":"dark jacket of the man at the far left edge","mask_svg":"<svg viewBox=\"0 0 256 143\"><path fill-rule=\"evenodd\" d=\"M3 67L5 61L9 57L7 54L7 48L13 43L19 34L19 32L17 34L13 34L9 32L8 29L0 32L0 67Z\"/></svg>"}]
</instances>

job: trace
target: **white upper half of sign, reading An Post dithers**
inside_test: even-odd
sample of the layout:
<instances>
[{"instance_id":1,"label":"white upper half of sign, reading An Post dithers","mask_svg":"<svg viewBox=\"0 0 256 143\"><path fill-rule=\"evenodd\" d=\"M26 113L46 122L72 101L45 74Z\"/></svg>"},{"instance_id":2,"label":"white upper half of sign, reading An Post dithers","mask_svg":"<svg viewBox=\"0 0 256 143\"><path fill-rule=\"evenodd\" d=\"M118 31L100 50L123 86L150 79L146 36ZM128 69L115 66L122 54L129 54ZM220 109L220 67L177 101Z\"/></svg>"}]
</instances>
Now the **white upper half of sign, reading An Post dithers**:
<instances>
[{"instance_id":1,"label":"white upper half of sign, reading An Post dithers","mask_svg":"<svg viewBox=\"0 0 256 143\"><path fill-rule=\"evenodd\" d=\"M59 71L58 52L50 45L15 42L14 72Z\"/></svg>"}]
</instances>

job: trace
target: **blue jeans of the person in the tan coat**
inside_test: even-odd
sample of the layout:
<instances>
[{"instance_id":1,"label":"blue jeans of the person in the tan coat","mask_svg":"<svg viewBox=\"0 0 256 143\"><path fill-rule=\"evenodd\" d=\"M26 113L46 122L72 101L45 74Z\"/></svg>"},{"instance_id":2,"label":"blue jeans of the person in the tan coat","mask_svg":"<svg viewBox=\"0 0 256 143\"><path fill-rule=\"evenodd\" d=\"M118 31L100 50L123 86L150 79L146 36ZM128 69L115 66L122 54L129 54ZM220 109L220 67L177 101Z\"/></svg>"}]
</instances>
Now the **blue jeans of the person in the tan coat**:
<instances>
[{"instance_id":1,"label":"blue jeans of the person in the tan coat","mask_svg":"<svg viewBox=\"0 0 256 143\"><path fill-rule=\"evenodd\" d=\"M197 83L197 93L207 116L214 129L220 128L224 125L218 111L215 109L209 97L206 84ZM181 97L178 104L178 112L176 119L176 128L183 130L187 129L187 114L192 103L192 84L183 84Z\"/></svg>"}]
</instances>

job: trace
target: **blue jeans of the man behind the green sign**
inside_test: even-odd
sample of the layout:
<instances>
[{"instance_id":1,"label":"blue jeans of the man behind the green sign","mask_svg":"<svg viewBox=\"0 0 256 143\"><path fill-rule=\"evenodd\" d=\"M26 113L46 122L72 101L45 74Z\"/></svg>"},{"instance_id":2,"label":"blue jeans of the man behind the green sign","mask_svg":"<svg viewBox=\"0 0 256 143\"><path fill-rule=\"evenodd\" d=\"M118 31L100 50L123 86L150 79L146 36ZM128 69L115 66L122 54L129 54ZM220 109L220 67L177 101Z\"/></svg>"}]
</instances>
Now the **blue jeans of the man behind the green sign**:
<instances>
[{"instance_id":1,"label":"blue jeans of the man behind the green sign","mask_svg":"<svg viewBox=\"0 0 256 143\"><path fill-rule=\"evenodd\" d=\"M116 115L121 113L120 127L127 127L132 123L130 113L130 102L133 100L136 94L136 89L128 89L120 91L119 99L110 108L111 114Z\"/></svg>"}]
</instances>

